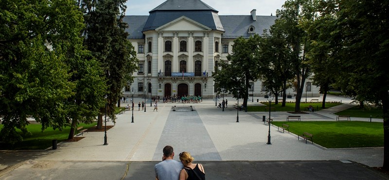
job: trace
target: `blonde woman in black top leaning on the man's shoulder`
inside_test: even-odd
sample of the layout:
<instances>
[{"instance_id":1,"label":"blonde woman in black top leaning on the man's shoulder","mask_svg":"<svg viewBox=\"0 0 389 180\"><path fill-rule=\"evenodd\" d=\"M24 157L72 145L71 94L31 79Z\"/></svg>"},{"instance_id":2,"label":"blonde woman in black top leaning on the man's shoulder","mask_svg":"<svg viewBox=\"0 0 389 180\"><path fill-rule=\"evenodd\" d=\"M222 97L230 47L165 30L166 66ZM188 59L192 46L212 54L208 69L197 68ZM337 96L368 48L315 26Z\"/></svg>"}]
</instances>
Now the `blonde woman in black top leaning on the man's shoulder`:
<instances>
[{"instance_id":1,"label":"blonde woman in black top leaning on the man's shoulder","mask_svg":"<svg viewBox=\"0 0 389 180\"><path fill-rule=\"evenodd\" d=\"M179 180L205 180L203 165L192 163L195 158L189 152L179 153L179 160L184 165L184 169L179 173Z\"/></svg>"}]
</instances>

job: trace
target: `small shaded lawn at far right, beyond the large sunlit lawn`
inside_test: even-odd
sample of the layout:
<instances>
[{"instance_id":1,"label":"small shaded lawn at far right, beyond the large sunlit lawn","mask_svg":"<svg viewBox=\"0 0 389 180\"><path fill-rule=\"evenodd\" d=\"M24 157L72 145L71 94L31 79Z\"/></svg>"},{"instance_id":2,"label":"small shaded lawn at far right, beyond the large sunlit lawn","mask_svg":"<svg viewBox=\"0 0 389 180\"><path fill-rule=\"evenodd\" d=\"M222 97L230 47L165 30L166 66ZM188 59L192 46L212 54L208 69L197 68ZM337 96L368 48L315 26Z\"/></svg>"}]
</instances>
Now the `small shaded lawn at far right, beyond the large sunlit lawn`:
<instances>
[{"instance_id":1,"label":"small shaded lawn at far right, beyond the large sunlit lawn","mask_svg":"<svg viewBox=\"0 0 389 180\"><path fill-rule=\"evenodd\" d=\"M360 109L358 106L349 108L340 112L336 112L336 115L350 115L351 117L361 118L382 118L382 108L374 108L367 106L364 109Z\"/></svg>"}]
</instances>

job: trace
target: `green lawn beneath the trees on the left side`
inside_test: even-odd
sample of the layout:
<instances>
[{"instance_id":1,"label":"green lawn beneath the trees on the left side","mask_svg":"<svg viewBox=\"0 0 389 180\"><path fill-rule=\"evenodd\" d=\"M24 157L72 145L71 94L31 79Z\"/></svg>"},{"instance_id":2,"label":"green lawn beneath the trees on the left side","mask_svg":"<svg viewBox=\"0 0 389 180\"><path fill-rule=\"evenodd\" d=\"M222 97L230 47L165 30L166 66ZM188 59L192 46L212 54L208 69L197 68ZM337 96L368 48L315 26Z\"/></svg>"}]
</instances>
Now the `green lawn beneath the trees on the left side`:
<instances>
[{"instance_id":1,"label":"green lawn beneath the trees on the left side","mask_svg":"<svg viewBox=\"0 0 389 180\"><path fill-rule=\"evenodd\" d=\"M96 126L97 123L92 124L83 124L81 123L78 126L84 126L84 128L89 128L92 126ZM0 125L0 129L3 127L3 125ZM30 124L27 126L28 131L32 133L31 136L23 136L23 142L19 142L16 144L5 144L0 143L0 150L20 150L20 149L27 149L27 150L40 150L40 149L46 149L48 147L52 146L52 140L56 139L59 142L62 142L64 140L68 139L70 127L64 128L63 131L59 131L58 129L53 130L53 128L49 127L44 132L41 130L40 124ZM17 131L21 131L18 129Z\"/></svg>"}]
</instances>

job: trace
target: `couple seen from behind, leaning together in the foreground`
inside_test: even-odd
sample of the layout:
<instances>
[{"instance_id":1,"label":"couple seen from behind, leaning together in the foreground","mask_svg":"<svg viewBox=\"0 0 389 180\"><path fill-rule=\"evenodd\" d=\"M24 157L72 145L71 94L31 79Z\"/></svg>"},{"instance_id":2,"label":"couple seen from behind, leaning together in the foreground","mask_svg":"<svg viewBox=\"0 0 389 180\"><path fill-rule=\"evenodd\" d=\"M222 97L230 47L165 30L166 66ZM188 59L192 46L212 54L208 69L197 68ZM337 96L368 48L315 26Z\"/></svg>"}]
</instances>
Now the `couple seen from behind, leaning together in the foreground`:
<instances>
[{"instance_id":1,"label":"couple seen from behind, leaning together in the foreground","mask_svg":"<svg viewBox=\"0 0 389 180\"><path fill-rule=\"evenodd\" d=\"M174 160L170 145L163 148L162 162L154 166L156 180L205 180L202 164L192 163L195 158L189 152L179 153L180 162Z\"/></svg>"}]
</instances>

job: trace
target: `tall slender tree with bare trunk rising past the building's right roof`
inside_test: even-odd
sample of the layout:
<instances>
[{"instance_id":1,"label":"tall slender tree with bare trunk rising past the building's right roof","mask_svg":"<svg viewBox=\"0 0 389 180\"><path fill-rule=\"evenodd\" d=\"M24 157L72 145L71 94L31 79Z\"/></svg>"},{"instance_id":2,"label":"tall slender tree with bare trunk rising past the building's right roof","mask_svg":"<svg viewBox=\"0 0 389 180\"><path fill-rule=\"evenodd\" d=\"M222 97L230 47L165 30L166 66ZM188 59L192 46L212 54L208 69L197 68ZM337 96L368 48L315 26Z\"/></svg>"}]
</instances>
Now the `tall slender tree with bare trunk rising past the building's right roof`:
<instances>
[{"instance_id":1,"label":"tall slender tree with bare trunk rising past the building's right roof","mask_svg":"<svg viewBox=\"0 0 389 180\"><path fill-rule=\"evenodd\" d=\"M276 19L275 23L284 33L288 46L292 50L289 58L296 82L296 112L300 111L305 80L311 74L310 64L305 54L310 48L309 39L302 24L313 21L314 6L315 0L287 0L283 4L283 9L277 10L277 16L280 18Z\"/></svg>"}]
</instances>

